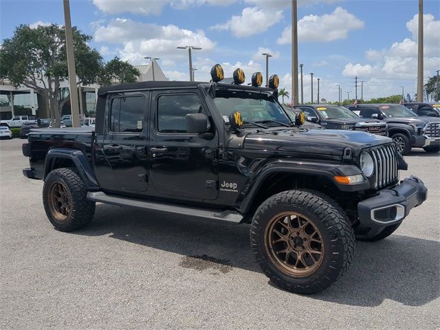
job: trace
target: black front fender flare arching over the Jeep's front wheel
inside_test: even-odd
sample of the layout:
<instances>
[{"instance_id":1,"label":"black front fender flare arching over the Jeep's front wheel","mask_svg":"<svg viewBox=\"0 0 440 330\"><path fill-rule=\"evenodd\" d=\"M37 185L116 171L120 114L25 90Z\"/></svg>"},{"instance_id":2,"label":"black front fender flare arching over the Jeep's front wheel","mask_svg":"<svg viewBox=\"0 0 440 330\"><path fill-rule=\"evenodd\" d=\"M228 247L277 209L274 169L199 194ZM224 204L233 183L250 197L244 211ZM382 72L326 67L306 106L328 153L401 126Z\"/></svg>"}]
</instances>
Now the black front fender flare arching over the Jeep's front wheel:
<instances>
[{"instance_id":1,"label":"black front fender flare arching over the Jeep's front wheel","mask_svg":"<svg viewBox=\"0 0 440 330\"><path fill-rule=\"evenodd\" d=\"M311 175L314 177L325 177L329 179L336 188L344 192L355 192L359 190L367 190L370 188L370 182L364 181L360 184L338 184L334 181L335 175L358 175L362 174L362 170L355 165L340 164L318 164L313 162L295 162L277 159L274 162L265 164L260 170L256 171L248 184L243 187L239 199L239 212L247 213L252 207L252 203L258 194L261 186L273 174L294 174L294 175Z\"/></svg>"}]
</instances>

